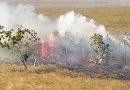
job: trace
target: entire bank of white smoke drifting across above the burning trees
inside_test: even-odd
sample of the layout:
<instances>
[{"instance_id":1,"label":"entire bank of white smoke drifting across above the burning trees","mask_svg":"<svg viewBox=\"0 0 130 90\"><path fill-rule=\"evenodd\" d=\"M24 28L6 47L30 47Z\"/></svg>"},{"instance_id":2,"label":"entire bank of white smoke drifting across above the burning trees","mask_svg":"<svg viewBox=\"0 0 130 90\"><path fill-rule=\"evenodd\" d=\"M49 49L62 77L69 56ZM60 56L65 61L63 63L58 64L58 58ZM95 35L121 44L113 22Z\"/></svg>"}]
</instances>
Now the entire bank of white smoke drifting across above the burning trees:
<instances>
[{"instance_id":1,"label":"entire bank of white smoke drifting across above the burning trees","mask_svg":"<svg viewBox=\"0 0 130 90\"><path fill-rule=\"evenodd\" d=\"M84 39L82 47L89 51L90 36L94 33L102 34L105 42L111 44L111 48L115 48L119 44L118 40L112 37L103 25L97 26L93 19L88 19L81 14L75 14L73 11L61 15L56 20L52 20L48 16L37 14L35 7L31 5L18 4L17 6L10 6L7 3L0 3L0 12L0 25L3 25L7 30L17 30L22 25L24 28L36 30L38 36L45 40L48 40L48 35L55 30L58 30L61 37L64 37L66 32L70 32L75 38L76 43ZM71 52L76 51L73 46L63 41L62 44L65 44ZM122 52L124 51L123 46L121 50ZM84 54L86 54L85 52L84 50ZM6 50L0 49L0 56L9 57L8 55L10 55L8 51L6 52Z\"/></svg>"}]
</instances>

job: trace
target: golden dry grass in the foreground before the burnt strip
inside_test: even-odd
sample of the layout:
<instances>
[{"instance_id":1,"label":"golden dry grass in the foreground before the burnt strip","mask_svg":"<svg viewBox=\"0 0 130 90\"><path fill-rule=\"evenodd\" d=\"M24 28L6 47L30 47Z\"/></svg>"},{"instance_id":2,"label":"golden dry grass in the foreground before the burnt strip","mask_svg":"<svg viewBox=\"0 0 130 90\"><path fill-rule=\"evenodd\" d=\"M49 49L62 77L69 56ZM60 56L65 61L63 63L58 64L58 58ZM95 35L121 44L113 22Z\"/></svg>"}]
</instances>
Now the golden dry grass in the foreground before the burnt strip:
<instances>
[{"instance_id":1,"label":"golden dry grass in the foreground before the burnt strip","mask_svg":"<svg viewBox=\"0 0 130 90\"><path fill-rule=\"evenodd\" d=\"M0 90L130 90L130 81L90 79L55 66L0 65Z\"/></svg>"}]
</instances>

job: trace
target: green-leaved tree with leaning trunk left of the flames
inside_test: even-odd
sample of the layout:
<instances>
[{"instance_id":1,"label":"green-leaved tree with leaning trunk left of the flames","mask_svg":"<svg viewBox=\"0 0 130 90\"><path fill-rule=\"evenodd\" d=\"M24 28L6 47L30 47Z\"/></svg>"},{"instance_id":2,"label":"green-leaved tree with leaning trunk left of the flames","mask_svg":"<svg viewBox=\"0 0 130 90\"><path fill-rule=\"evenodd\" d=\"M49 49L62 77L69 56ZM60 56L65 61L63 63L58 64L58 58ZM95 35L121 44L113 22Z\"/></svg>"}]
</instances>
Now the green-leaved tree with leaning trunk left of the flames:
<instances>
[{"instance_id":1,"label":"green-leaved tree with leaning trunk left of the flames","mask_svg":"<svg viewBox=\"0 0 130 90\"><path fill-rule=\"evenodd\" d=\"M17 31L4 30L4 27L0 26L0 46L15 52L21 59L25 70L27 69L26 61L32 54L30 46L37 40L39 38L37 38L35 30L22 27L18 28Z\"/></svg>"}]
</instances>

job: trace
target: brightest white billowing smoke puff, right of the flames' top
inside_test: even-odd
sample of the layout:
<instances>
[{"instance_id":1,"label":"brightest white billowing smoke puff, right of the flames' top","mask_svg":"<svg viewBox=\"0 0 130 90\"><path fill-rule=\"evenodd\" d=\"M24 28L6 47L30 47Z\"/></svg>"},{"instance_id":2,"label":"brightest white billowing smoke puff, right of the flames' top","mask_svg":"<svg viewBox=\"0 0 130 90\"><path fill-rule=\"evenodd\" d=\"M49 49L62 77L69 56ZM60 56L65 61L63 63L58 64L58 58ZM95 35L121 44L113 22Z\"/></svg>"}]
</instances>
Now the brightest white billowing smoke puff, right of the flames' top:
<instances>
[{"instance_id":1,"label":"brightest white billowing smoke puff, right of the flames' top","mask_svg":"<svg viewBox=\"0 0 130 90\"><path fill-rule=\"evenodd\" d=\"M70 32L75 38L90 38L94 33L107 36L103 25L97 26L93 19L88 19L73 11L60 16L58 19L58 30L64 36L65 32Z\"/></svg>"}]
</instances>

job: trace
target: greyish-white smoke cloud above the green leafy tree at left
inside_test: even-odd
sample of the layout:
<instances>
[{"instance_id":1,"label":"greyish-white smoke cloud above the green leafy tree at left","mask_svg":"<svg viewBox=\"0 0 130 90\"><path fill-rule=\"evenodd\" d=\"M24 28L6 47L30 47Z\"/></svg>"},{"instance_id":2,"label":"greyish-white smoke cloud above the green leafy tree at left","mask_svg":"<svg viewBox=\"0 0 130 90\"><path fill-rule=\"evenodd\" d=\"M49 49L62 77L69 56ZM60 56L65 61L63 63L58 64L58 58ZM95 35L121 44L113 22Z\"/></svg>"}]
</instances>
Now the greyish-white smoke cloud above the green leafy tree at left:
<instances>
[{"instance_id":1,"label":"greyish-white smoke cloud above the green leafy tree at left","mask_svg":"<svg viewBox=\"0 0 130 90\"><path fill-rule=\"evenodd\" d=\"M7 3L0 3L0 24L5 29L17 29L21 25L25 28L37 30L40 36L48 35L56 28L56 24L50 18L35 13L31 5L18 4L9 6Z\"/></svg>"}]
</instances>

